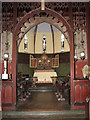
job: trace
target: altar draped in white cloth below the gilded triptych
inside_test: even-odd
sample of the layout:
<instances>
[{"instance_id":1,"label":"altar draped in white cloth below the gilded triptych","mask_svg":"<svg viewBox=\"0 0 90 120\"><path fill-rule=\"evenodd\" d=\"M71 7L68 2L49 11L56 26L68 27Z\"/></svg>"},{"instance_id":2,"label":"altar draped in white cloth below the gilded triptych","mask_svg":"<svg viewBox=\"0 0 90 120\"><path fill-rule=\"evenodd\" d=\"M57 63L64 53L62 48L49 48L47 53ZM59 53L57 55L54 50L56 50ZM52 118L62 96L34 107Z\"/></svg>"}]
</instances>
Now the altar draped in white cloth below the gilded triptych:
<instances>
[{"instance_id":1,"label":"altar draped in white cloth below the gilded triptych","mask_svg":"<svg viewBox=\"0 0 90 120\"><path fill-rule=\"evenodd\" d=\"M35 83L53 83L53 77L57 77L54 70L35 70L33 77Z\"/></svg>"}]
</instances>

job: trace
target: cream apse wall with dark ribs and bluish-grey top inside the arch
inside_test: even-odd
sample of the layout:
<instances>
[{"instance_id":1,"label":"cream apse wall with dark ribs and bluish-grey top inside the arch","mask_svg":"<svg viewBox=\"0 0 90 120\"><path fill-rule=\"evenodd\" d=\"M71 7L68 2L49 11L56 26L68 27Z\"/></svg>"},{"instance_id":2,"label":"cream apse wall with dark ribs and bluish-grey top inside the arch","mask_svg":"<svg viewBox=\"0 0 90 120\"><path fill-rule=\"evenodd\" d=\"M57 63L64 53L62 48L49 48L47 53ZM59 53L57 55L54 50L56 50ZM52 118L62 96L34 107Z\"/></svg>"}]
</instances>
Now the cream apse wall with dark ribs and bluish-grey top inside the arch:
<instances>
[{"instance_id":1,"label":"cream apse wall with dark ribs and bluish-grey top inside the arch","mask_svg":"<svg viewBox=\"0 0 90 120\"><path fill-rule=\"evenodd\" d=\"M70 51L69 43L64 34L55 26L42 22L25 34L19 45L18 52L43 54L43 36L46 37L46 54ZM25 48L25 44L27 44L27 48Z\"/></svg>"}]
</instances>

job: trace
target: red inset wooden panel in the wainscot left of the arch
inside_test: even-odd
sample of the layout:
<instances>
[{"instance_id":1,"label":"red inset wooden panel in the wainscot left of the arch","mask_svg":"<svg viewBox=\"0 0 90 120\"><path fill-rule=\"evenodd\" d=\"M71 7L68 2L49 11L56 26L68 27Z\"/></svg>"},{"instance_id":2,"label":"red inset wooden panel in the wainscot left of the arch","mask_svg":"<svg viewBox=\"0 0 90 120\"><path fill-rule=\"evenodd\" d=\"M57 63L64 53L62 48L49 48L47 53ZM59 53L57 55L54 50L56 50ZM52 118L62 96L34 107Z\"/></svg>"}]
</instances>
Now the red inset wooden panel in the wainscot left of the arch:
<instances>
[{"instance_id":1,"label":"red inset wooden panel in the wainscot left of the arch","mask_svg":"<svg viewBox=\"0 0 90 120\"><path fill-rule=\"evenodd\" d=\"M5 103L12 103L12 87L11 86L6 86Z\"/></svg>"}]
</instances>

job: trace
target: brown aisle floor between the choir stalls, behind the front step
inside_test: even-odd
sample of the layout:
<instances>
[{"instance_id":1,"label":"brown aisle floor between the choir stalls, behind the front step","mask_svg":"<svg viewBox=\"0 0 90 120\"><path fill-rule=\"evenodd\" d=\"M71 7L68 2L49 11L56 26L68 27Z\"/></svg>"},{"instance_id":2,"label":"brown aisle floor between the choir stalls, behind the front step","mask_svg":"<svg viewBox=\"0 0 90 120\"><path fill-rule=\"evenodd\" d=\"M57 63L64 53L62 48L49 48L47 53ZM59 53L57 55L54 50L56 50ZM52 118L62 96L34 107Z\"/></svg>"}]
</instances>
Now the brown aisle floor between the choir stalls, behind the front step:
<instances>
[{"instance_id":1,"label":"brown aisle floor between the choir stalls, behind the front step","mask_svg":"<svg viewBox=\"0 0 90 120\"><path fill-rule=\"evenodd\" d=\"M55 92L32 92L25 102L18 102L18 111L61 111L69 110L68 100L58 101Z\"/></svg>"}]
</instances>

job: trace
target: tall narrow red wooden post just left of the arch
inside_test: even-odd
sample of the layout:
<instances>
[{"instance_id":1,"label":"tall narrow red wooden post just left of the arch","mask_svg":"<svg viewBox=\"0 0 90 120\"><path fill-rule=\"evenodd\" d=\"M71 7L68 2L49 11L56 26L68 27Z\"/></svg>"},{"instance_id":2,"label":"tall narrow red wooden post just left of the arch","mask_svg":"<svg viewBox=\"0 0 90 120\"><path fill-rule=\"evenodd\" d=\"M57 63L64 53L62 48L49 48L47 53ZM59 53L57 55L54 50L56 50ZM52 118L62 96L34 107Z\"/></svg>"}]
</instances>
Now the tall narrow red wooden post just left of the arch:
<instances>
[{"instance_id":1,"label":"tall narrow red wooden post just left of the arch","mask_svg":"<svg viewBox=\"0 0 90 120\"><path fill-rule=\"evenodd\" d=\"M17 46L14 35L15 27L17 24L17 3L13 6L13 52L12 52L12 79L13 79L13 104L16 105L16 59L17 59Z\"/></svg>"}]
</instances>

